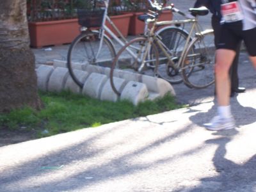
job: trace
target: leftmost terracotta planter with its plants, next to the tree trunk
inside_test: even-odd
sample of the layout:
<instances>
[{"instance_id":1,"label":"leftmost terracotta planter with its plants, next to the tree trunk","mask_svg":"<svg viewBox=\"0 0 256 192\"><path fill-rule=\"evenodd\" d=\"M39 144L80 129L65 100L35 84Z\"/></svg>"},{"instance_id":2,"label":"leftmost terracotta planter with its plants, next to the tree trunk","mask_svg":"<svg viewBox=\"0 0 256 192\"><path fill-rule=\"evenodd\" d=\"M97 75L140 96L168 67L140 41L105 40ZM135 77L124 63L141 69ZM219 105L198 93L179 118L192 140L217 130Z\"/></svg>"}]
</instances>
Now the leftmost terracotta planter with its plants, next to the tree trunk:
<instances>
[{"instance_id":1,"label":"leftmost terracotta planter with its plants, next to the tree trunk","mask_svg":"<svg viewBox=\"0 0 256 192\"><path fill-rule=\"evenodd\" d=\"M82 1L28 0L31 47L67 44L79 34L76 8Z\"/></svg>"}]
</instances>

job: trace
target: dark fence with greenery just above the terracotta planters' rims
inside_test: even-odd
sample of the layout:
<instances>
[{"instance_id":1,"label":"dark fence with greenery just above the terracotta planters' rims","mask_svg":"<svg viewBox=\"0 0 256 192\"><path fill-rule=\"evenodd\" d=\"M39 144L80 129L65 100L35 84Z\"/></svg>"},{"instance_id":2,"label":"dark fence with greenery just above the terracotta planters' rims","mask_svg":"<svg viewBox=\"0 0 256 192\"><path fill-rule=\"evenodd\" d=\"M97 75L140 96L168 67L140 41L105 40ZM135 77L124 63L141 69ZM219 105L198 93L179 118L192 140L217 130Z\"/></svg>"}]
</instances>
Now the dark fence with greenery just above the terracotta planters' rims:
<instances>
[{"instance_id":1,"label":"dark fence with greenery just above the terracotta planters' rims","mask_svg":"<svg viewBox=\"0 0 256 192\"><path fill-rule=\"evenodd\" d=\"M99 0L27 0L29 21L72 19L77 17L77 9L92 9ZM124 12L146 12L147 0L109 0L109 15Z\"/></svg>"}]
</instances>

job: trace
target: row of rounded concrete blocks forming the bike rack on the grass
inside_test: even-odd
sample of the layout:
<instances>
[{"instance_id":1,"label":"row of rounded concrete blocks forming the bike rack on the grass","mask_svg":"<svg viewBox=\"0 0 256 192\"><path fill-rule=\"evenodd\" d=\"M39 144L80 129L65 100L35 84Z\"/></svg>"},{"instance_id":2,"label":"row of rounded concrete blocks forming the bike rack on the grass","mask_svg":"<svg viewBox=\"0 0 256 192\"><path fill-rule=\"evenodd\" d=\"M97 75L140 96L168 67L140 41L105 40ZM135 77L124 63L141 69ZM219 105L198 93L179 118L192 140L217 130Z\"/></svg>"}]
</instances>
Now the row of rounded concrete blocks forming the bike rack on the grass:
<instances>
[{"instance_id":1,"label":"row of rounded concrete blocks forming the bike rack on the grass","mask_svg":"<svg viewBox=\"0 0 256 192\"><path fill-rule=\"evenodd\" d=\"M54 60L53 66L41 65L36 69L38 88L50 92L70 90L77 94L88 95L95 99L130 100L134 105L145 100L154 100L163 97L166 93L175 95L170 83L164 79L133 73L125 70L115 70L114 83L120 97L113 92L109 81L110 68L95 65L74 63L79 81L84 83L83 88L77 86L67 69L67 62Z\"/></svg>"}]
</instances>

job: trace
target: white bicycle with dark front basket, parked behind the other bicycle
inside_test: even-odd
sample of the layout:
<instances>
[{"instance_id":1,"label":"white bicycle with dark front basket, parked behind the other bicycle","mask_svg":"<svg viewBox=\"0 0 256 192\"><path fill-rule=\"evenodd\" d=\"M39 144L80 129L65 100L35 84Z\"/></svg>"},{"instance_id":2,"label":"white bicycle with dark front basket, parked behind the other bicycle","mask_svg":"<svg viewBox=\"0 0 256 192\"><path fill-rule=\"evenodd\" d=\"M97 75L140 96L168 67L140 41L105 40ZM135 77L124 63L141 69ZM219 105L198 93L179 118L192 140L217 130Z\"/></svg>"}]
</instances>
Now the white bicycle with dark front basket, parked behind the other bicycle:
<instances>
[{"instance_id":1,"label":"white bicycle with dark front basket, parked behind the other bicycle","mask_svg":"<svg viewBox=\"0 0 256 192\"><path fill-rule=\"evenodd\" d=\"M109 0L104 0L104 7L101 6L100 8L95 6L95 2L96 1L93 1L94 8L91 10L77 10L79 24L81 25L81 34L73 40L67 55L67 67L70 76L81 88L83 88L84 82L76 69L83 69L83 67L88 64L111 67L111 63L116 56L116 50L111 38L121 47L128 43L124 35L122 35L120 30L108 17ZM145 21L148 17L148 15L140 15L139 19ZM120 38L106 26L106 21L111 24ZM148 23L145 23L144 31L148 29L147 24ZM108 35L106 35L106 33L108 33ZM156 33L159 36L168 36L169 33L172 33L172 27L165 27Z\"/></svg>"}]
</instances>

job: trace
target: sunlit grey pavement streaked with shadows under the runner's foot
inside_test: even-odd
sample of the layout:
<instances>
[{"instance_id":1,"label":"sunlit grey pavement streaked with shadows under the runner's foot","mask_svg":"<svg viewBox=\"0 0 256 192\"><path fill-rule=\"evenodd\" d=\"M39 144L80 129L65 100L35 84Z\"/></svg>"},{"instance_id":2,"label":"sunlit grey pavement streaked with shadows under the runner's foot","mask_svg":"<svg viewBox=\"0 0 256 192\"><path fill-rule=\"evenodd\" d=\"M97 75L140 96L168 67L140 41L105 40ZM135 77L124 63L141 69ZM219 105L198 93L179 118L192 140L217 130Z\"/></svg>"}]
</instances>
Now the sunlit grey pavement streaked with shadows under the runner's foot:
<instances>
[{"instance_id":1,"label":"sunlit grey pavement streaked with shadows under the runner's foot","mask_svg":"<svg viewBox=\"0 0 256 192\"><path fill-rule=\"evenodd\" d=\"M206 131L212 88L187 88L179 97L198 105L0 147L0 191L256 191L256 80L246 58L246 93L231 99L236 129Z\"/></svg>"}]
</instances>

